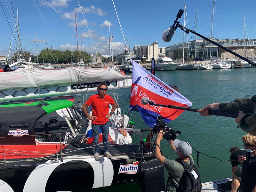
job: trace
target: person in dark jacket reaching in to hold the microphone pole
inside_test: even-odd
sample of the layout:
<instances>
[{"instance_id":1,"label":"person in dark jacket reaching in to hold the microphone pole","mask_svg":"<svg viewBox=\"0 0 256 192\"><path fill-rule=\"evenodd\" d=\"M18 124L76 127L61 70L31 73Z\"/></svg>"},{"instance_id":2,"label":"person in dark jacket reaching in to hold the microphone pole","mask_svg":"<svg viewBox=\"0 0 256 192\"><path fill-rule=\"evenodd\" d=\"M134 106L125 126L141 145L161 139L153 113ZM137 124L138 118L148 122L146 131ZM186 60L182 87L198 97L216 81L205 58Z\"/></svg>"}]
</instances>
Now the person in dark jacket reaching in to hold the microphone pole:
<instances>
[{"instance_id":1,"label":"person in dark jacket reaching in to hold the microphone pole","mask_svg":"<svg viewBox=\"0 0 256 192\"><path fill-rule=\"evenodd\" d=\"M256 136L256 95L252 98L236 99L229 103L212 103L198 110L202 116L210 116L209 110L238 113L235 122L240 128Z\"/></svg>"}]
</instances>

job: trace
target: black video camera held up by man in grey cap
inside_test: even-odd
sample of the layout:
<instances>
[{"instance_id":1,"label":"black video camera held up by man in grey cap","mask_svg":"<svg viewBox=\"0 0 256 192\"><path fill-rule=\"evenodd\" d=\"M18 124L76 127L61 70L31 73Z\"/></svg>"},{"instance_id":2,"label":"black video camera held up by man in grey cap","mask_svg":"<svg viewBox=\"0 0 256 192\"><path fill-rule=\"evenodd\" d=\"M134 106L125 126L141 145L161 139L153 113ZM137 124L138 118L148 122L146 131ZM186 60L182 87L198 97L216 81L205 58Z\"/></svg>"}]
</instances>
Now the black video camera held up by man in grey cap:
<instances>
[{"instance_id":1,"label":"black video camera held up by man in grey cap","mask_svg":"<svg viewBox=\"0 0 256 192\"><path fill-rule=\"evenodd\" d=\"M163 138L166 140L175 140L177 136L181 134L180 131L175 131L172 128L167 127L160 115L157 116L156 123L157 124L154 124L153 132L156 134L159 133L160 130L163 130L163 132L165 132Z\"/></svg>"}]
</instances>

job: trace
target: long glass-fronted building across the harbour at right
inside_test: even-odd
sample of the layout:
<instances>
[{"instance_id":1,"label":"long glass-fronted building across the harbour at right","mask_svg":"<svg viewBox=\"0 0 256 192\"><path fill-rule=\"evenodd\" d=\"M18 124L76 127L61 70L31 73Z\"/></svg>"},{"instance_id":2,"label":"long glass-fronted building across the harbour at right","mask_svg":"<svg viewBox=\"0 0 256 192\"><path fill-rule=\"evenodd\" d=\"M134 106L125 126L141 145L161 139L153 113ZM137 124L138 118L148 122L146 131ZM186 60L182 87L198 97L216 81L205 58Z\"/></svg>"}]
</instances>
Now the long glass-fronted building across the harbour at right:
<instances>
[{"instance_id":1,"label":"long glass-fronted building across the harbour at right","mask_svg":"<svg viewBox=\"0 0 256 192\"><path fill-rule=\"evenodd\" d=\"M208 38L210 39L211 37ZM212 37L212 40L239 55L245 55L246 58L256 56L256 39L245 39L245 50L244 39L216 39ZM214 44L212 44L211 48L211 43L204 39L185 42L184 46L185 61L194 60L194 58L209 60L210 56L211 58L220 59L232 59L235 57L233 54L217 47ZM166 47L165 53L168 53L168 56L173 60L182 60L183 43L173 44Z\"/></svg>"}]
</instances>

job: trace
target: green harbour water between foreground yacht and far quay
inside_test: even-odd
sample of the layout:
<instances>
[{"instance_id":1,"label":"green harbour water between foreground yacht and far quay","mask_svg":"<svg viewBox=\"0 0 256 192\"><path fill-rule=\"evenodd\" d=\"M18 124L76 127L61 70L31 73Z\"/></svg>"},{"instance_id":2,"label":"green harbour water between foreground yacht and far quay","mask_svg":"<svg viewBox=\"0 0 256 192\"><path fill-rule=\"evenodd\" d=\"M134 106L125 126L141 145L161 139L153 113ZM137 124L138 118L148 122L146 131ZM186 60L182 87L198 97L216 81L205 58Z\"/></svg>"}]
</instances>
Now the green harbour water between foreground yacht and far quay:
<instances>
[{"instance_id":1,"label":"green harbour water between foreground yacht and far quay","mask_svg":"<svg viewBox=\"0 0 256 192\"><path fill-rule=\"evenodd\" d=\"M180 93L193 102L193 108L202 108L210 103L231 102L236 98L247 98L256 94L256 68L156 71L156 76L166 84L177 85ZM113 90L118 93L119 105L129 110L131 89ZM108 94L111 90L108 90ZM90 92L90 94L93 94ZM168 105L169 103L161 103ZM135 128L149 128L138 112L132 112L131 120ZM170 124L179 130L182 137L197 151L221 160L229 160L231 146L243 147L241 137L246 134L234 122L234 118L222 116L201 116L196 112L184 111ZM144 133L143 139L146 139ZM132 136L133 142L139 142L139 135ZM179 140L182 138L179 136ZM161 141L163 155L177 158L166 140ZM195 164L196 151L192 154ZM199 154L199 172L202 182L228 178L232 176L231 163ZM165 183L168 173L165 171Z\"/></svg>"}]
</instances>

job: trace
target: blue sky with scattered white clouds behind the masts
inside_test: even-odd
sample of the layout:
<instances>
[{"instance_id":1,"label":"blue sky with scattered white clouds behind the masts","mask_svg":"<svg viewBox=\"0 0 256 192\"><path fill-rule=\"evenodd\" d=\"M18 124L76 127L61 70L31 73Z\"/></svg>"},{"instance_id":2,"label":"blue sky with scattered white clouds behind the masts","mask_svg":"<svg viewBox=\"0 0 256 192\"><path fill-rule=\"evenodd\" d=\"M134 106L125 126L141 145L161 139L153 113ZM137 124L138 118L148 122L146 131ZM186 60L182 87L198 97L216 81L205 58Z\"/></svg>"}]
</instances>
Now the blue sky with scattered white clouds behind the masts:
<instances>
[{"instance_id":1,"label":"blue sky with scattered white clouds behind the masts","mask_svg":"<svg viewBox=\"0 0 256 192\"><path fill-rule=\"evenodd\" d=\"M62 51L76 50L75 7L79 50L82 49L90 54L96 52L95 50L103 55L109 54L108 21L110 21L113 55L124 51L124 38L110 0L79 0L81 8L77 0L0 0L0 2L2 5L0 7L0 55L8 55L12 31L17 19L17 9L19 9L23 50L36 54L35 31L37 31L38 53L46 49L46 42L48 48L52 46L52 49ZM114 0L114 3L130 49L134 45L150 45L155 41L158 42L158 47L181 43L183 32L180 29L177 29L169 43L165 43L161 37L163 31L173 24L179 9L184 9L184 3L187 9L187 26L193 29L196 10L198 10L196 31L203 36L211 36L213 0ZM245 36L250 39L256 38L255 10L255 0L215 0L212 36L219 39L243 39L243 17L245 16ZM179 19L181 24L183 24L183 18L184 14ZM18 40L17 29L14 35ZM15 38L12 41L12 52L16 51L17 47ZM190 39L191 34L185 37L185 41Z\"/></svg>"}]
</instances>

